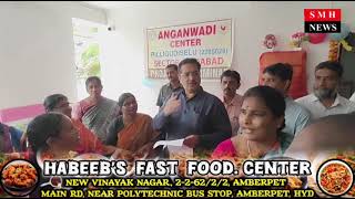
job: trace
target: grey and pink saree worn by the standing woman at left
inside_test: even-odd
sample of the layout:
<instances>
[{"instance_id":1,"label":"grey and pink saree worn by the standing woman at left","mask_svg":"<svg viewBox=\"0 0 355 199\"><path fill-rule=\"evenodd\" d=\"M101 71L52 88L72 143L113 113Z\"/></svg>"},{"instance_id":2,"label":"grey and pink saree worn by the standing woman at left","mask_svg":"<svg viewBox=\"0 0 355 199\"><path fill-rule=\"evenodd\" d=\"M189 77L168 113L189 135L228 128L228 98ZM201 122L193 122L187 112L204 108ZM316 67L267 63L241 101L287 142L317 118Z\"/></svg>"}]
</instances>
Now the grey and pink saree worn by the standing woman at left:
<instances>
[{"instance_id":1,"label":"grey and pink saree worn by the standing woman at left","mask_svg":"<svg viewBox=\"0 0 355 199\"><path fill-rule=\"evenodd\" d=\"M115 116L116 102L102 97L99 103L80 101L73 108L73 118L82 122L101 142L106 139L106 128Z\"/></svg>"}]
</instances>

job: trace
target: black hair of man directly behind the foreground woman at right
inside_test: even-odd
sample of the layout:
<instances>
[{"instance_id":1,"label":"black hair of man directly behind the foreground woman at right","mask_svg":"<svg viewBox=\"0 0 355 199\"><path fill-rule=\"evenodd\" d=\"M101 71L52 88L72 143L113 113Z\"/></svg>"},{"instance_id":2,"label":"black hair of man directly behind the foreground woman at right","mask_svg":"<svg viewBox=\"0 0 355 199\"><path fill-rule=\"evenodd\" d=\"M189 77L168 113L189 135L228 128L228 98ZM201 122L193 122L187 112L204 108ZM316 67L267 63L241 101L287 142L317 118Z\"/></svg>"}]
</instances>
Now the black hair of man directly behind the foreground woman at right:
<instances>
[{"instance_id":1,"label":"black hair of man directly behind the foreground woman at right","mask_svg":"<svg viewBox=\"0 0 355 199\"><path fill-rule=\"evenodd\" d=\"M266 66L263 73L268 73L273 76L277 76L283 81L292 81L293 69L288 63L275 63Z\"/></svg>"}]
</instances>

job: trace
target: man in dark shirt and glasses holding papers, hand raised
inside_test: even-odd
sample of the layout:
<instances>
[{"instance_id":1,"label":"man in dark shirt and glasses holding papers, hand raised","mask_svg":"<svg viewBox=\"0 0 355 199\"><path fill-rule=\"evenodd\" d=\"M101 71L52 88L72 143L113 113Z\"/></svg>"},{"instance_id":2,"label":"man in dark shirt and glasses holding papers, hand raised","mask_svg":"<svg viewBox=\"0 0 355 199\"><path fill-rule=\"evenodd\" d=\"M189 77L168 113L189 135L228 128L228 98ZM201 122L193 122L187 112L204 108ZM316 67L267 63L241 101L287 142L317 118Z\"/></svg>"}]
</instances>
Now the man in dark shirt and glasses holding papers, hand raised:
<instances>
[{"instance_id":1,"label":"man in dark shirt and glasses holding papers, hand raised","mask_svg":"<svg viewBox=\"0 0 355 199\"><path fill-rule=\"evenodd\" d=\"M165 101L153 119L153 128L165 139L184 139L191 148L212 150L232 135L231 123L223 103L200 86L201 64L185 59L179 64L182 91Z\"/></svg>"}]
</instances>

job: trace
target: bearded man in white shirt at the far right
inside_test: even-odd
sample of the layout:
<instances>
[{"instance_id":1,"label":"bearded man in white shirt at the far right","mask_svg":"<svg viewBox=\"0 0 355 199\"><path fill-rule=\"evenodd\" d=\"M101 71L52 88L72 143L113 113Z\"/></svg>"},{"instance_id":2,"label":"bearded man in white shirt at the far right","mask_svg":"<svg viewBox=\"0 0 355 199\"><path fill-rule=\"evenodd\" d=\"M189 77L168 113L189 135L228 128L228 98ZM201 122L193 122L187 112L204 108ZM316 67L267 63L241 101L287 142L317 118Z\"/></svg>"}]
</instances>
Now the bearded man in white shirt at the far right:
<instances>
[{"instance_id":1,"label":"bearded man in white shirt at the far right","mask_svg":"<svg viewBox=\"0 0 355 199\"><path fill-rule=\"evenodd\" d=\"M338 62L320 63L315 67L314 93L301 97L296 102L306 107L314 119L355 112L355 103L337 93L342 75L343 66Z\"/></svg>"}]
</instances>

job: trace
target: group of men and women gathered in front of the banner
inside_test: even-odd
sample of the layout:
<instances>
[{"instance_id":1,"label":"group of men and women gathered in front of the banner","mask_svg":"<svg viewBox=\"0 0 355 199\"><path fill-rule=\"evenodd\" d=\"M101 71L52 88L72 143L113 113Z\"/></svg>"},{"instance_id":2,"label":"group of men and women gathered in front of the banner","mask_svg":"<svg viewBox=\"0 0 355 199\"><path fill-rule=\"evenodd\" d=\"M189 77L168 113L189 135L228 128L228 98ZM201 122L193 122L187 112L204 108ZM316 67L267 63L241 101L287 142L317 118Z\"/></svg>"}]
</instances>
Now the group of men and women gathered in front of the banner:
<instances>
[{"instance_id":1,"label":"group of men and women gathered in front of the banner","mask_svg":"<svg viewBox=\"0 0 355 199\"><path fill-rule=\"evenodd\" d=\"M68 158L69 151L141 155L152 151L161 139L183 139L185 146L213 158L267 159L283 155L296 137L307 134L304 128L312 122L355 112L355 103L337 92L343 75L337 62L320 63L313 93L296 101L288 95L293 69L287 63L267 66L262 85L243 95L236 93L241 75L224 71L220 97L201 86L196 59L184 59L165 70L169 83L160 90L160 109L154 118L138 112L131 93L123 93L118 102L102 96L100 78L91 76L85 82L89 97L73 109L67 96L48 96L43 103L47 113L30 122L22 140L33 153L51 154L57 159Z\"/></svg>"}]
</instances>

